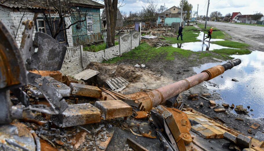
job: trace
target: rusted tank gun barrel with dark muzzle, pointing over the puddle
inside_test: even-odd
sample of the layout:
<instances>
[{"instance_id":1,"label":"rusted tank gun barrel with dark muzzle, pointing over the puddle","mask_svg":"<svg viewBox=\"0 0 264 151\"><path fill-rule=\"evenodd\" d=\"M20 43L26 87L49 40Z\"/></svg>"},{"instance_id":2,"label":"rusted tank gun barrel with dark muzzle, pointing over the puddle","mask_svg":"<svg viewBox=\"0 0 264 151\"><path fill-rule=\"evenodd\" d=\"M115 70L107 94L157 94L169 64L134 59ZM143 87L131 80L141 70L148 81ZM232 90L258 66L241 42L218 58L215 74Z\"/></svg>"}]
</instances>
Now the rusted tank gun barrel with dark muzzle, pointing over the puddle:
<instances>
[{"instance_id":1,"label":"rusted tank gun barrel with dark muzzle, pointing over the puddle","mask_svg":"<svg viewBox=\"0 0 264 151\"><path fill-rule=\"evenodd\" d=\"M240 63L240 59L229 61L223 65L217 65L207 70L203 70L199 74L188 77L186 79L182 79L156 90L152 90L147 93L136 92L133 94L129 94L128 97L142 102L142 105L144 106L144 108L146 108L146 111L149 111L152 107L164 103L166 100L175 97L181 92L188 90L189 88L202 83L203 81L211 80L219 76L220 74L223 74L226 70L232 69L234 66L239 65Z\"/></svg>"}]
</instances>

